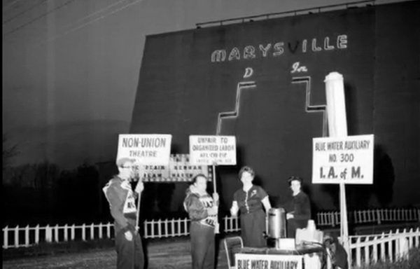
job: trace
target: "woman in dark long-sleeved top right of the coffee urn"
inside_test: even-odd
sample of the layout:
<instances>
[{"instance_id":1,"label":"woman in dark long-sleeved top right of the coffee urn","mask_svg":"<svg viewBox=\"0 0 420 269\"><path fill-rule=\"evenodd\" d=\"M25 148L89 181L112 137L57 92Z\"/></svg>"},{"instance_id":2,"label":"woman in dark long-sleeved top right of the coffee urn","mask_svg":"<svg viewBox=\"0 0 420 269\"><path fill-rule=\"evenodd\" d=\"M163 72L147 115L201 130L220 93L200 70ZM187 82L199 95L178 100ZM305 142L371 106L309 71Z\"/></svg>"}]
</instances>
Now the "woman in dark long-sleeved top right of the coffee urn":
<instances>
[{"instance_id":1,"label":"woman in dark long-sleeved top right of the coffee urn","mask_svg":"<svg viewBox=\"0 0 420 269\"><path fill-rule=\"evenodd\" d=\"M302 179L300 177L289 177L288 183L292 190L293 198L288 205L287 237L294 238L297 228L306 228L311 219L311 204L309 197L302 191Z\"/></svg>"}]
</instances>

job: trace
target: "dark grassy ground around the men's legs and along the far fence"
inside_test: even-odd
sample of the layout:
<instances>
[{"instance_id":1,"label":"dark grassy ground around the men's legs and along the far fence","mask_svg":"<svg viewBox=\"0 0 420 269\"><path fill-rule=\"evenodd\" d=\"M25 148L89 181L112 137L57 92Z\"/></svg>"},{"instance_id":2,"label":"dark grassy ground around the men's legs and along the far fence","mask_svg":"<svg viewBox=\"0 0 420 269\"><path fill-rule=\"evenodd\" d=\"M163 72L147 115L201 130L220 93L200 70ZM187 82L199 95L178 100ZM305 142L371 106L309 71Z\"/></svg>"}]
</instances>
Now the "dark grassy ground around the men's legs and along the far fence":
<instances>
[{"instance_id":1,"label":"dark grassy ground around the men's legs and along the far fence","mask_svg":"<svg viewBox=\"0 0 420 269\"><path fill-rule=\"evenodd\" d=\"M416 228L418 223L399 223L399 225L363 226L355 229L356 234L374 234L396 228ZM337 228L324 232L338 233ZM233 236L238 234L230 234ZM191 268L189 237L177 237L165 240L144 240L148 269L185 269ZM218 239L217 268L228 268L228 262L223 247L223 240ZM3 249L3 268L6 269L43 269L43 268L116 268L116 251L110 240L99 248L97 244L84 244L80 247L66 247L65 250L51 247L48 251L35 251L31 256L5 256ZM21 248L22 249L22 248ZM52 249L52 250L51 250ZM58 250L57 250L58 249ZM64 252L64 253L63 253ZM6 258L5 258L6 257Z\"/></svg>"}]
</instances>

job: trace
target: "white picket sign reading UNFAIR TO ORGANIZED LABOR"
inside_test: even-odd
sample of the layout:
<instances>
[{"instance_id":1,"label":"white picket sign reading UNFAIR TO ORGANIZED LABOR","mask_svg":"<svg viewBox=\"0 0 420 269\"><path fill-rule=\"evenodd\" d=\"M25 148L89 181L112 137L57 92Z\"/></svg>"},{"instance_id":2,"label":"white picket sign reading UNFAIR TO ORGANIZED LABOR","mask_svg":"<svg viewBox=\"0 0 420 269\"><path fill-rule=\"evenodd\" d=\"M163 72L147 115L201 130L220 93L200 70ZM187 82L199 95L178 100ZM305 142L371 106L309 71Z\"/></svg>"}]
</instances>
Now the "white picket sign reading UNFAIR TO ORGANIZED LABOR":
<instances>
[{"instance_id":1,"label":"white picket sign reading UNFAIR TO ORGANIZED LABOR","mask_svg":"<svg viewBox=\"0 0 420 269\"><path fill-rule=\"evenodd\" d=\"M236 165L235 137L190 135L190 163L193 165Z\"/></svg>"}]
</instances>

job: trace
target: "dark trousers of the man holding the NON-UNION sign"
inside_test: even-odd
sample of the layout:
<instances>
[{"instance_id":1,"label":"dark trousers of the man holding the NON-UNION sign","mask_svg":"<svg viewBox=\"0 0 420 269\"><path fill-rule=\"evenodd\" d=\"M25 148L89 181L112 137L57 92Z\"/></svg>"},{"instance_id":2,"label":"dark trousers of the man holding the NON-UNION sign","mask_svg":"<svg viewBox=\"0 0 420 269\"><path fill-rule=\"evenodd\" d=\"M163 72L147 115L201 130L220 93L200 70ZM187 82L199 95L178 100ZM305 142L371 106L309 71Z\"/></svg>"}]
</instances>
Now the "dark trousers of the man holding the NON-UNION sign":
<instances>
[{"instance_id":1,"label":"dark trousers of the man holding the NON-UNION sign","mask_svg":"<svg viewBox=\"0 0 420 269\"><path fill-rule=\"evenodd\" d=\"M125 239L124 231L116 233L117 269L144 269L144 253L139 233L131 241Z\"/></svg>"}]
</instances>

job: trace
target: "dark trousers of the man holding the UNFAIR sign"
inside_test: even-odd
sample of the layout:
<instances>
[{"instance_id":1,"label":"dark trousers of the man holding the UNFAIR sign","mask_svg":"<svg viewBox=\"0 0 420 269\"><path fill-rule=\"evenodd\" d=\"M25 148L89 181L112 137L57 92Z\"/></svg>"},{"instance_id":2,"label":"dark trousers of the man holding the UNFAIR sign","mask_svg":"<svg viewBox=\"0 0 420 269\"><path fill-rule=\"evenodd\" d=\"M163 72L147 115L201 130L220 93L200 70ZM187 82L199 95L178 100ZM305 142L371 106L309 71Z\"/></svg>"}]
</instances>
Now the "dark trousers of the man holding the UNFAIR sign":
<instances>
[{"instance_id":1,"label":"dark trousers of the man holding the UNFAIR sign","mask_svg":"<svg viewBox=\"0 0 420 269\"><path fill-rule=\"evenodd\" d=\"M191 222L193 269L214 269L214 228Z\"/></svg>"}]
</instances>

